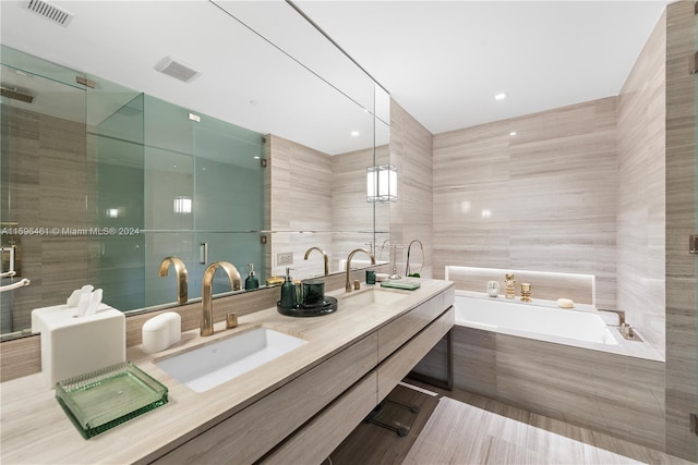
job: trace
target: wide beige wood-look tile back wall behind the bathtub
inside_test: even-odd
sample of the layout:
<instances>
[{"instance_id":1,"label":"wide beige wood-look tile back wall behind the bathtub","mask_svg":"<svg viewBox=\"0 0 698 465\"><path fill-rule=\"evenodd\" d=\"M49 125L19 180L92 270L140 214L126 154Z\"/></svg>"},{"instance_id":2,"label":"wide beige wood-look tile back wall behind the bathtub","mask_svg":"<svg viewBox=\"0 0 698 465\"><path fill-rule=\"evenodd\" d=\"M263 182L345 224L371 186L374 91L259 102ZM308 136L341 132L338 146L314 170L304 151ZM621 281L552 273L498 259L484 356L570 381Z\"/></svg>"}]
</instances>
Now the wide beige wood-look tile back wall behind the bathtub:
<instances>
[{"instance_id":1,"label":"wide beige wood-look tile back wall behind the bathtub","mask_svg":"<svg viewBox=\"0 0 698 465\"><path fill-rule=\"evenodd\" d=\"M615 97L437 134L433 179L436 278L446 265L589 273L597 305L615 308Z\"/></svg>"}]
</instances>

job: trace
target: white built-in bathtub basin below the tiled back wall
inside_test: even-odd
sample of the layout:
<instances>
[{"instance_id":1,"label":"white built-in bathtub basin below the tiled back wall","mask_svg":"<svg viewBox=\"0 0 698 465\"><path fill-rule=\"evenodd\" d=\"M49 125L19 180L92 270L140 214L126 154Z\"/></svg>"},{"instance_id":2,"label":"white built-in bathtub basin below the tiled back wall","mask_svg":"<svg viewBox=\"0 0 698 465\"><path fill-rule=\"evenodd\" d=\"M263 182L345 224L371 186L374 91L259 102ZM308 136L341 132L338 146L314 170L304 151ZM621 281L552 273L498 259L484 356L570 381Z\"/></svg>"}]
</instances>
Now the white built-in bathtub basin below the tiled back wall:
<instances>
[{"instance_id":1,"label":"white built-in bathtub basin below the tiled back wall","mask_svg":"<svg viewBox=\"0 0 698 465\"><path fill-rule=\"evenodd\" d=\"M568 342L618 345L597 310L559 308L555 303L521 303L500 297L476 297L456 291L456 325L504 334Z\"/></svg>"}]
</instances>

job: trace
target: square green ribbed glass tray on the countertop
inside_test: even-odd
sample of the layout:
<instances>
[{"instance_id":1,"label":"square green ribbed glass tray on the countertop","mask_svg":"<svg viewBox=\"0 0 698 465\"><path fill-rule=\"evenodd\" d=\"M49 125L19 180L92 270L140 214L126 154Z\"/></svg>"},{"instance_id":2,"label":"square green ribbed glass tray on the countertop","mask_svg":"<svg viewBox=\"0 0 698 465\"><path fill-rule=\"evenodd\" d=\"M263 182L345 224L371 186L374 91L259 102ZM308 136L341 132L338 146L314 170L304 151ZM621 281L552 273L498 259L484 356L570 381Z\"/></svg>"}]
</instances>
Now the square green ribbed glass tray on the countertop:
<instances>
[{"instance_id":1,"label":"square green ribbed glass tray on the countertop","mask_svg":"<svg viewBox=\"0 0 698 465\"><path fill-rule=\"evenodd\" d=\"M167 388L130 362L56 384L56 399L85 439L167 403Z\"/></svg>"}]
</instances>

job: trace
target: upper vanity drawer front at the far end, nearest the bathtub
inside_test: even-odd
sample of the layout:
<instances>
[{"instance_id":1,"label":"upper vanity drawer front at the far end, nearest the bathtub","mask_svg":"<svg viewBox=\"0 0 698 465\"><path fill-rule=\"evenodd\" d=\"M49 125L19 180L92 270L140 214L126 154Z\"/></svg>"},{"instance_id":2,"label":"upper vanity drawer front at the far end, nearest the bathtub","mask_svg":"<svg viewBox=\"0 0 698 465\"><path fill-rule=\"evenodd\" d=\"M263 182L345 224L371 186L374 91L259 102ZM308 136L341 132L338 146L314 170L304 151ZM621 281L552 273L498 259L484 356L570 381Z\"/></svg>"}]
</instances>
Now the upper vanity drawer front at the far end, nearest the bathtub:
<instances>
[{"instance_id":1,"label":"upper vanity drawer front at the far end, nearest the bathtub","mask_svg":"<svg viewBox=\"0 0 698 465\"><path fill-rule=\"evenodd\" d=\"M381 328L378 330L378 362L397 351L446 308L444 306L444 293L442 292Z\"/></svg>"}]
</instances>

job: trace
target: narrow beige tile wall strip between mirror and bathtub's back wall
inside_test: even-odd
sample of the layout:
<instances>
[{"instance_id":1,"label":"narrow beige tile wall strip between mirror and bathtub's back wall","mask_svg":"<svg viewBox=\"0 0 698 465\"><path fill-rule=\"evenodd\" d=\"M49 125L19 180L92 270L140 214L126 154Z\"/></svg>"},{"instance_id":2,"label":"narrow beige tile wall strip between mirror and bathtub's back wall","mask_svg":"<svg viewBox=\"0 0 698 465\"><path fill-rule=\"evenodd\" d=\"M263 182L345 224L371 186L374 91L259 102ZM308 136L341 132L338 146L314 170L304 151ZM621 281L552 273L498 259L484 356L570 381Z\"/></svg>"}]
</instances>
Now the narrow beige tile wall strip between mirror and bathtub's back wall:
<instances>
[{"instance_id":1,"label":"narrow beige tile wall strip between mirror and bathtub's back wall","mask_svg":"<svg viewBox=\"0 0 698 465\"><path fill-rule=\"evenodd\" d=\"M397 102L390 101L390 163L398 168L398 201L389 206L390 241L405 245L397 255L400 276L405 273L407 246L413 240L424 245L424 259L420 257L419 244L414 244L410 254L411 271L419 271L423 261L421 276L436 276L433 268L433 218L436 210L432 188L432 137Z\"/></svg>"}]
</instances>

